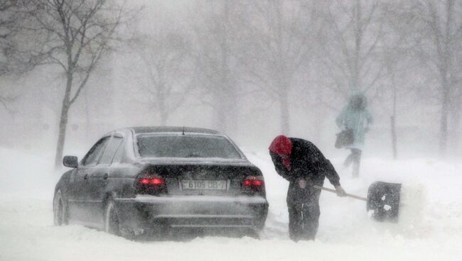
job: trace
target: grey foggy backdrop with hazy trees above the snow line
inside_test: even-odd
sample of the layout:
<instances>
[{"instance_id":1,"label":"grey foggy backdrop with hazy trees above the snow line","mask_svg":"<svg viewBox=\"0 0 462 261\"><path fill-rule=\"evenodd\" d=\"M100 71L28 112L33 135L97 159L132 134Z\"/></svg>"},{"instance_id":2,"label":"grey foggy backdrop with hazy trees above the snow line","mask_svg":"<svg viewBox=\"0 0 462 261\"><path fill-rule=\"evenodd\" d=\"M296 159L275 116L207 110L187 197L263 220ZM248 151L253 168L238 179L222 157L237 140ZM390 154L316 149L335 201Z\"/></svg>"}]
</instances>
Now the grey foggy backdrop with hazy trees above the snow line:
<instances>
[{"instance_id":1,"label":"grey foggy backdrop with hazy trees above the snow line","mask_svg":"<svg viewBox=\"0 0 462 261\"><path fill-rule=\"evenodd\" d=\"M37 22L50 21L40 5L2 2L0 146L54 157L65 52ZM398 159L461 156L462 1L107 4L117 8L100 15L121 19L70 106L65 155L116 128L163 125L222 130L256 150L283 133L342 155L335 116L362 91L375 119L365 157L394 157L392 116Z\"/></svg>"}]
</instances>

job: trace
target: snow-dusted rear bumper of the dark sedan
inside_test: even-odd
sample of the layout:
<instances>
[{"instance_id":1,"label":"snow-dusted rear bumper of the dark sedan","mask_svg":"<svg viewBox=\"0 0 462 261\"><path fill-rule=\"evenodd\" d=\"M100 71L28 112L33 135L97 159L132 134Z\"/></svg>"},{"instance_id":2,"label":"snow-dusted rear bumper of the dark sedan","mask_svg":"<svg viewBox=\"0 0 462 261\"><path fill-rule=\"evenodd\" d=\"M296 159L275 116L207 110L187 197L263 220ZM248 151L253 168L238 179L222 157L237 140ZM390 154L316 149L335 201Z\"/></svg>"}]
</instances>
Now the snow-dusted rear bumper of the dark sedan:
<instances>
[{"instance_id":1,"label":"snow-dusted rear bumper of the dark sedan","mask_svg":"<svg viewBox=\"0 0 462 261\"><path fill-rule=\"evenodd\" d=\"M268 213L262 196L148 196L116 199L122 226L149 229L251 228L261 230Z\"/></svg>"}]
</instances>

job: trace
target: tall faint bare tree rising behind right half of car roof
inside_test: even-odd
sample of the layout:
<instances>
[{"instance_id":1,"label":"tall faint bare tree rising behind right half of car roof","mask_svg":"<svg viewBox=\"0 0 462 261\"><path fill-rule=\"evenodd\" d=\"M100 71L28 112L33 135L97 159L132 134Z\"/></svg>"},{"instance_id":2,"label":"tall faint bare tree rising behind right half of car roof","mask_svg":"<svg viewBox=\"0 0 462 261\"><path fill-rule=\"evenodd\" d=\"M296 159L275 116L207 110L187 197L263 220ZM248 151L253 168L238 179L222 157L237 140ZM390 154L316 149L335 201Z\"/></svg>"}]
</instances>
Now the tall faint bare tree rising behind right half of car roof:
<instances>
[{"instance_id":1,"label":"tall faint bare tree rising behind right half of car roof","mask_svg":"<svg viewBox=\"0 0 462 261\"><path fill-rule=\"evenodd\" d=\"M206 3L206 4L204 4ZM237 128L238 83L240 68L236 62L237 39L235 19L237 2L230 0L201 2L198 6L199 26L195 33L195 65L200 68L198 79L208 100L203 101L214 111L217 129L231 131Z\"/></svg>"}]
</instances>

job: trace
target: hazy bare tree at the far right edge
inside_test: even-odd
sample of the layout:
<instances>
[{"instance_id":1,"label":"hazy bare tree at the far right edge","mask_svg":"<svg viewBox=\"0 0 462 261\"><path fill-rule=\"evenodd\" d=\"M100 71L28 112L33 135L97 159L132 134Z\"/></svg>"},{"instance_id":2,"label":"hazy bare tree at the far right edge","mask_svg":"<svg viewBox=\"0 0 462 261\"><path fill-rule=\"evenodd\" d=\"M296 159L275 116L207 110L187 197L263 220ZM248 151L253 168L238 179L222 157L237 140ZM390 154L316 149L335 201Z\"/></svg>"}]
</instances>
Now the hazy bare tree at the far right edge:
<instances>
[{"instance_id":1,"label":"hazy bare tree at the far right edge","mask_svg":"<svg viewBox=\"0 0 462 261\"><path fill-rule=\"evenodd\" d=\"M429 63L429 69L439 76L440 123L439 123L439 150L441 155L446 155L448 143L448 119L451 107L456 109L453 103L457 98L460 86L460 73L456 67L456 52L462 48L462 2L456 0L441 1L416 1L409 7L408 15L417 18L414 35L419 43L417 55L421 60Z\"/></svg>"}]
</instances>

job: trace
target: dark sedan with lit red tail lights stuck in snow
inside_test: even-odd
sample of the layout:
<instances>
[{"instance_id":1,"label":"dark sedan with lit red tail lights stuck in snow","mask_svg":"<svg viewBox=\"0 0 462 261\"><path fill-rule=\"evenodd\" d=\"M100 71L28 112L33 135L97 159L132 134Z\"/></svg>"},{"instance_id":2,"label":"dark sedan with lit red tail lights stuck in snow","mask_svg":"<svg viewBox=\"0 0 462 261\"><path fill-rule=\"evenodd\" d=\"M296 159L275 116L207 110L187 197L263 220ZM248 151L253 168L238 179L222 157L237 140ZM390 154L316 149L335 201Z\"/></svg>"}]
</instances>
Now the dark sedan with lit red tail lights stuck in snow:
<instances>
[{"instance_id":1,"label":"dark sedan with lit red tail lights stuck in snow","mask_svg":"<svg viewBox=\"0 0 462 261\"><path fill-rule=\"evenodd\" d=\"M163 235L173 228L255 233L267 218L262 172L215 130L134 127L104 135L55 187L56 225Z\"/></svg>"}]
</instances>

